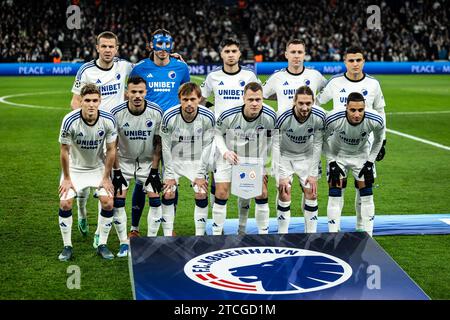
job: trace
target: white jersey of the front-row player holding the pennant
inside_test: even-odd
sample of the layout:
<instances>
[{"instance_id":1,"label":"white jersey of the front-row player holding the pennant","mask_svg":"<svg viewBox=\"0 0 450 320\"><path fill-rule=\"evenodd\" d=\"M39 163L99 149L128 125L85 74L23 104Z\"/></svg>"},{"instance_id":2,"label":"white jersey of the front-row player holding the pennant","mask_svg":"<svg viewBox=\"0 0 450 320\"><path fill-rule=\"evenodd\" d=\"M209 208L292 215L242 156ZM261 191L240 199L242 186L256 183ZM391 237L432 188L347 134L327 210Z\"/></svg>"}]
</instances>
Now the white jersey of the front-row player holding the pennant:
<instances>
[{"instance_id":1,"label":"white jersey of the front-row player holding the pennant","mask_svg":"<svg viewBox=\"0 0 450 320\"><path fill-rule=\"evenodd\" d=\"M238 156L265 158L271 149L276 113L266 104L256 119L244 116L244 106L223 112L216 122L216 145L223 155L233 151ZM267 131L269 130L269 131Z\"/></svg>"}]
</instances>

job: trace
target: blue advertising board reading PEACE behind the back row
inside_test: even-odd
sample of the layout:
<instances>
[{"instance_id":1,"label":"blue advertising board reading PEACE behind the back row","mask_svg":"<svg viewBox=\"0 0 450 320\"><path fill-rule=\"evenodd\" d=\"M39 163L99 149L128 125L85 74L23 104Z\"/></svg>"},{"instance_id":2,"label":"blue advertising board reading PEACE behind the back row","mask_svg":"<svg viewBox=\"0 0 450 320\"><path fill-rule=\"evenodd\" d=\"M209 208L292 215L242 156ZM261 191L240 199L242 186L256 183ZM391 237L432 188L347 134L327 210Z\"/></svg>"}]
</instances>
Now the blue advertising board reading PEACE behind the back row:
<instances>
[{"instance_id":1,"label":"blue advertising board reading PEACE behind the back row","mask_svg":"<svg viewBox=\"0 0 450 320\"><path fill-rule=\"evenodd\" d=\"M342 62L305 62L307 67L323 74L345 72ZM82 63L0 63L0 76L69 76L76 75ZM204 76L220 65L189 64L192 76ZM286 68L287 62L258 62L244 66L256 74L272 74ZM366 62L364 71L369 74L450 74L450 61L445 62Z\"/></svg>"}]
</instances>

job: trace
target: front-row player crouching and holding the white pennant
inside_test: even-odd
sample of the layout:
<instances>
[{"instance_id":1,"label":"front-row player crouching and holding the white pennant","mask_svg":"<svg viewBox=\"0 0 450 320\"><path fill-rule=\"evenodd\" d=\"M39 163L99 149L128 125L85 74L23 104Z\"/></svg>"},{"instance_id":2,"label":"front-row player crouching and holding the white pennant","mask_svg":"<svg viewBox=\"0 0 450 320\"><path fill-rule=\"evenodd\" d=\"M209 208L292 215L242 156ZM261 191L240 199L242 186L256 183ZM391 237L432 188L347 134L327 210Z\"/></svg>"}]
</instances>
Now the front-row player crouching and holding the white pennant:
<instances>
[{"instance_id":1,"label":"front-row player crouching and holding the white pennant","mask_svg":"<svg viewBox=\"0 0 450 320\"><path fill-rule=\"evenodd\" d=\"M221 235L223 231L232 166L240 162L251 163L254 160L264 163L265 151L271 149L269 132L275 128L275 122L276 113L269 106L263 105L262 87L257 82L250 82L244 87L244 105L226 110L219 116L215 141L220 157L217 159L214 173L216 194L212 210L213 235ZM261 141L268 142L264 146ZM249 172L249 176L252 172ZM257 179L256 171L253 174L253 179ZM262 174L261 180L262 194L255 197L255 220L258 233L265 234L269 231L267 176Z\"/></svg>"}]
</instances>

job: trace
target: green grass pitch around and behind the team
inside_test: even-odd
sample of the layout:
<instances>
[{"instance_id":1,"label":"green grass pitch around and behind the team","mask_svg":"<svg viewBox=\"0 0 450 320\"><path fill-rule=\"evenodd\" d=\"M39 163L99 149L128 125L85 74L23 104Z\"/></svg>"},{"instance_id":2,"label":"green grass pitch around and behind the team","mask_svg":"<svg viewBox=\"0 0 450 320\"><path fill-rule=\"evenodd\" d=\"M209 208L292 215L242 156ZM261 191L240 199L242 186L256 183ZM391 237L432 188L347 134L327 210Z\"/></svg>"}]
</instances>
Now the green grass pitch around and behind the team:
<instances>
[{"instance_id":1,"label":"green grass pitch around and behind the team","mask_svg":"<svg viewBox=\"0 0 450 320\"><path fill-rule=\"evenodd\" d=\"M387 103L388 128L450 146L449 76L377 78ZM13 95L6 101L22 105L0 102L0 299L131 299L127 260L103 261L92 248L97 223L95 201L88 203L87 238L79 234L76 208L73 210L74 260L61 263L57 259L62 249L58 227L58 134L62 118L70 110L73 77L0 80L0 97ZM200 82L201 78L193 80ZM377 164L377 215L449 213L450 151L392 133L387 134L387 141L387 155ZM180 188L175 231L178 235L192 235L192 189L185 180ZM269 190L271 217L275 217L273 180ZM293 192L292 214L299 216L297 182ZM354 195L353 188L348 188L344 214L352 214ZM327 188L322 179L320 216L326 214L326 203ZM126 207L130 223L131 199ZM143 234L147 230L147 211L148 205L141 219ZM233 197L228 212L228 217L237 217ZM251 217L253 212L252 207ZM450 235L375 239L432 299L450 299ZM115 230L111 230L109 245L117 253ZM79 290L67 287L69 265L80 268Z\"/></svg>"}]
</instances>

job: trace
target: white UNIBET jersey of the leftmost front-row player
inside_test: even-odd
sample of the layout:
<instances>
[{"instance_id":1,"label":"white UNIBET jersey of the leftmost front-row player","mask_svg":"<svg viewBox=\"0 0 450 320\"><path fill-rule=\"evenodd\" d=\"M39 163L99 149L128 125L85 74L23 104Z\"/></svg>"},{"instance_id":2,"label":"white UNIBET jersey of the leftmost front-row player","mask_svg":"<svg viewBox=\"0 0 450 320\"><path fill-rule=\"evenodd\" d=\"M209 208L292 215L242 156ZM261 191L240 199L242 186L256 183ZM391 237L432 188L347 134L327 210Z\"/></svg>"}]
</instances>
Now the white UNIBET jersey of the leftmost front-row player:
<instances>
[{"instance_id":1,"label":"white UNIBET jersey of the leftmost front-row player","mask_svg":"<svg viewBox=\"0 0 450 320\"><path fill-rule=\"evenodd\" d=\"M70 169L84 171L104 166L103 145L117 139L116 120L106 111L99 110L97 122L88 125L81 110L73 110L62 122L59 143L70 146Z\"/></svg>"}]
</instances>

